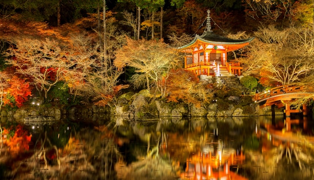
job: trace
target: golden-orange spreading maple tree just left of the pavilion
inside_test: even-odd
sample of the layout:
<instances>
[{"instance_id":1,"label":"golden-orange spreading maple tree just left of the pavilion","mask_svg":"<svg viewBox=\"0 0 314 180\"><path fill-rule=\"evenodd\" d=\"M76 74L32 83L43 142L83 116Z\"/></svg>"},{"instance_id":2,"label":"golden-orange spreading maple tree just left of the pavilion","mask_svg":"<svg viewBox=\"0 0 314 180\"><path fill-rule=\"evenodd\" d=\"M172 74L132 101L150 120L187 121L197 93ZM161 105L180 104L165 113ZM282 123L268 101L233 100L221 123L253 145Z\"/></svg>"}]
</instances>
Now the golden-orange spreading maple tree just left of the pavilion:
<instances>
[{"instance_id":1,"label":"golden-orange spreading maple tree just left of the pavilion","mask_svg":"<svg viewBox=\"0 0 314 180\"><path fill-rule=\"evenodd\" d=\"M152 80L156 92L165 97L167 83L159 82L167 78L169 70L181 60L178 51L163 40L126 40L126 45L116 52L115 66L135 67L135 72L145 76L147 89L150 91Z\"/></svg>"}]
</instances>

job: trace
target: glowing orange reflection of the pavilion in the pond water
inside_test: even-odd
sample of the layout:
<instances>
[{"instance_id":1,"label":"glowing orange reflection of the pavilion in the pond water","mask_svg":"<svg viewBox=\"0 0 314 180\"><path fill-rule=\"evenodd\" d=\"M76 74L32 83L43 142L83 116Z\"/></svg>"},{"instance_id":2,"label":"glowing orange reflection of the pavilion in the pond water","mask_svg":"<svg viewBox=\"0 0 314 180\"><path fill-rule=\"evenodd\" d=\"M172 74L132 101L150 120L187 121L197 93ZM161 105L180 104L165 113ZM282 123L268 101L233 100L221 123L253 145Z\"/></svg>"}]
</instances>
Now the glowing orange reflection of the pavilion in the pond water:
<instances>
[{"instance_id":1,"label":"glowing orange reflection of the pavilion in the pond water","mask_svg":"<svg viewBox=\"0 0 314 180\"><path fill-rule=\"evenodd\" d=\"M181 179L247 179L230 171L230 166L242 164L241 149L223 148L221 141L206 144L202 152L187 158Z\"/></svg>"}]
</instances>

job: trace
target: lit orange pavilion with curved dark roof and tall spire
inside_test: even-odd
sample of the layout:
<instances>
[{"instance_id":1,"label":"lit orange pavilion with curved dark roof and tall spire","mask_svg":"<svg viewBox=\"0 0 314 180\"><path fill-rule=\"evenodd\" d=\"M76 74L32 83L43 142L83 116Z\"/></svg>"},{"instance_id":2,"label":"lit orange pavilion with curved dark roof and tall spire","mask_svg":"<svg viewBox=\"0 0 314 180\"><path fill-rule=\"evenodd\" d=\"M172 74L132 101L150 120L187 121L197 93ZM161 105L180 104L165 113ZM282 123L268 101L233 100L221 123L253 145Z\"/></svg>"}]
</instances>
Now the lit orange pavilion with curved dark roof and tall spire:
<instances>
[{"instance_id":1,"label":"lit orange pavilion with curved dark roof and tall spire","mask_svg":"<svg viewBox=\"0 0 314 180\"><path fill-rule=\"evenodd\" d=\"M253 39L230 39L213 33L210 10L207 10L206 31L203 35L196 35L192 42L179 47L186 53L184 68L197 75L241 75L240 63L230 62L227 59L227 52L240 49Z\"/></svg>"}]
</instances>

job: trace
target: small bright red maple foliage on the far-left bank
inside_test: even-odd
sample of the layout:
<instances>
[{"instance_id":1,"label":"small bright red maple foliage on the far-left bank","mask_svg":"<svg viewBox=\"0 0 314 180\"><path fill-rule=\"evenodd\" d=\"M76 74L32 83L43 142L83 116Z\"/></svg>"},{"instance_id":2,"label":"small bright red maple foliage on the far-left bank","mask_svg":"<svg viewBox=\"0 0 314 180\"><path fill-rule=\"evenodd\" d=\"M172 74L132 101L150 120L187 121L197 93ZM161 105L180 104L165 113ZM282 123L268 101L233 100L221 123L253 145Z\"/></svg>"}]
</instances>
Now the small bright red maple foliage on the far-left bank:
<instances>
[{"instance_id":1,"label":"small bright red maple foliage on the far-left bank","mask_svg":"<svg viewBox=\"0 0 314 180\"><path fill-rule=\"evenodd\" d=\"M5 89L4 104L11 107L14 104L10 101L10 96L14 97L15 105L22 107L23 103L28 100L29 96L32 96L31 87L29 82L25 82L25 79L20 79L17 76L13 76L12 79L7 80L9 87Z\"/></svg>"}]
</instances>

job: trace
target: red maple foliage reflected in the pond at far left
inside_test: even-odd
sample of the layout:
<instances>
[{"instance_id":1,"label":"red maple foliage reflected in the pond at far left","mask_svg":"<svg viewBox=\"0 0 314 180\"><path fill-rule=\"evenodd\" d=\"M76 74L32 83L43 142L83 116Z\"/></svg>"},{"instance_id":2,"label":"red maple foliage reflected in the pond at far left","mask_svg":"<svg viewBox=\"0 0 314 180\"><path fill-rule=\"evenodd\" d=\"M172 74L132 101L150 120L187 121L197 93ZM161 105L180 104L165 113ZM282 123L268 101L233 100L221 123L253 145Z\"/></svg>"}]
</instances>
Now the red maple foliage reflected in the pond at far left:
<instances>
[{"instance_id":1,"label":"red maple foliage reflected in the pond at far left","mask_svg":"<svg viewBox=\"0 0 314 180\"><path fill-rule=\"evenodd\" d=\"M32 134L28 135L28 132L24 130L21 125L18 125L15 128L13 137L8 137L11 131L13 131L13 127L10 129L4 129L3 131L3 136L7 137L7 140L4 141L4 144L9 146L10 151L12 151L13 154L18 154L22 151L29 150L29 143L31 142Z\"/></svg>"}]
</instances>

